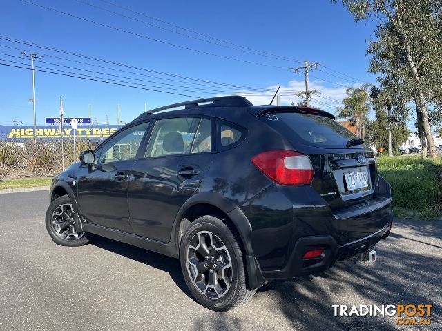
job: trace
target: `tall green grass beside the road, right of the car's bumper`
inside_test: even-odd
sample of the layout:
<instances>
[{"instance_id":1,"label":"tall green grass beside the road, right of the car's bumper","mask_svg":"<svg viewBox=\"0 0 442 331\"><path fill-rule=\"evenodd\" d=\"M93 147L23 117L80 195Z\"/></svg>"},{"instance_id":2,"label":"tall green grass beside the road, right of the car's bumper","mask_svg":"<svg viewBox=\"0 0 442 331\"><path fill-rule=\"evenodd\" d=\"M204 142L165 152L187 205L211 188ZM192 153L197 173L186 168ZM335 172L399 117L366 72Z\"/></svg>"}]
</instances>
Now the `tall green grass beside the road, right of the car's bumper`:
<instances>
[{"instance_id":1,"label":"tall green grass beside the road, right of the car's bumper","mask_svg":"<svg viewBox=\"0 0 442 331\"><path fill-rule=\"evenodd\" d=\"M393 188L393 209L400 217L442 218L442 160L379 157L378 172Z\"/></svg>"}]
</instances>

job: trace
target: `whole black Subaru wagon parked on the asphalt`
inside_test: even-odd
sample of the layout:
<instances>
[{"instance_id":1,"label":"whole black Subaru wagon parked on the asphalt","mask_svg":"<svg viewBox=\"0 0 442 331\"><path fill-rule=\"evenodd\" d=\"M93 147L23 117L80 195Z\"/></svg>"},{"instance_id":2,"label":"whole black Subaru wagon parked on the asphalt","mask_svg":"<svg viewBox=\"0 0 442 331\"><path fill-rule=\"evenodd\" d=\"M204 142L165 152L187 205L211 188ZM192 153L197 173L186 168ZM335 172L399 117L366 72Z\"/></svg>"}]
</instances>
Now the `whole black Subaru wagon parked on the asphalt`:
<instances>
[{"instance_id":1,"label":"whole black Subaru wagon parked on the asphalt","mask_svg":"<svg viewBox=\"0 0 442 331\"><path fill-rule=\"evenodd\" d=\"M176 257L195 299L218 312L272 279L365 259L392 226L376 155L314 108L177 103L80 161L52 181L55 243L84 245L92 233Z\"/></svg>"}]
</instances>

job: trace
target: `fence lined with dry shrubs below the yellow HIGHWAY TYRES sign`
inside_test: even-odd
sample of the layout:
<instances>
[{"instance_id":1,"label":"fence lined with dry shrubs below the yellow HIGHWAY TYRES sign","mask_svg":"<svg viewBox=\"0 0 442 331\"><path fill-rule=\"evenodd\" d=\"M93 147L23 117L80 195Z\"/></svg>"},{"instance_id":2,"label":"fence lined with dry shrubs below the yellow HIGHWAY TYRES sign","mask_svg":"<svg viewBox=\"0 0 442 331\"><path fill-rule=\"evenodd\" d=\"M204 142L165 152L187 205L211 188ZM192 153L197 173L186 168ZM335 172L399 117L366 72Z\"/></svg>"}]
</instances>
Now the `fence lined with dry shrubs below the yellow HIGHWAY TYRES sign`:
<instances>
[{"instance_id":1,"label":"fence lined with dry shrubs below the yellow HIGHWAY TYRES sign","mask_svg":"<svg viewBox=\"0 0 442 331\"><path fill-rule=\"evenodd\" d=\"M0 137L0 179L19 177L53 176L79 161L79 154L84 150L93 150L100 143L97 139L48 138L4 139ZM63 167L64 164L64 167Z\"/></svg>"}]
</instances>

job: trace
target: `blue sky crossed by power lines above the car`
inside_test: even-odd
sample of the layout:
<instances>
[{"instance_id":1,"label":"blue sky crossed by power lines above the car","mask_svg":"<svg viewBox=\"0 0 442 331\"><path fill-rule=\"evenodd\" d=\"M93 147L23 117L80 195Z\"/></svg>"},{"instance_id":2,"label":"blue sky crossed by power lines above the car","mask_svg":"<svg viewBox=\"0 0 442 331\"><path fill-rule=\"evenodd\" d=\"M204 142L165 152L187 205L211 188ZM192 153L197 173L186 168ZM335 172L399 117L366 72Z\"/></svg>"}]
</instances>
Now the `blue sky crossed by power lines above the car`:
<instances>
[{"instance_id":1,"label":"blue sky crossed by power lines above the car","mask_svg":"<svg viewBox=\"0 0 442 331\"><path fill-rule=\"evenodd\" d=\"M192 34L191 32L174 28L166 23L148 19L133 12L124 11L122 8L117 8L99 0L26 1L68 12L84 19L94 20L143 35L144 37L137 37L133 34L98 26L94 23L68 17L19 0L2 1L2 10L0 11L1 36L185 77L259 88L276 89L276 86L282 86L283 90L290 92L299 92L304 88L303 75L296 75L285 68L271 67L297 67L302 64L297 61L261 57L249 52L220 47L213 43L206 43L185 37L182 34L148 26L140 21L119 17L111 12L105 12L85 4L92 3L94 6L107 8L108 10L156 24L163 28L206 39L199 34ZM371 22L355 23L352 16L339 3L293 0L281 0L278 3L272 3L271 1L222 1L214 3L212 1L200 0L109 1L161 19L162 21L222 39L223 41L229 41L262 52L278 54L282 57L299 60L307 59L323 64L327 68L320 67L320 69L324 71L314 70L311 72L310 87L316 88L323 93L322 96L329 98L327 100L322 97L316 97L316 100L323 103L322 105L316 104L327 111L333 112L333 106L336 106L336 103L331 101L330 98L341 100L345 95L345 86L354 86L354 79L350 79L340 73L355 77L358 80L374 82L374 76L367 73L369 59L365 56L367 40L372 37L374 24ZM159 39L167 43L175 43L202 52L217 54L218 57L158 43L146 37ZM209 40L221 43L215 41L215 39ZM230 44L223 43L223 45ZM3 46L19 48L20 50ZM2 53L0 55L0 59L2 59L0 63L8 63L4 60L30 63L29 59L5 55L20 56L21 49L36 52L37 54L46 54L41 61L48 63L107 72L126 77L130 76L127 73L72 62L72 60L84 61L108 66L109 68L130 70L139 74L150 74L163 78L131 75L131 77L154 82L141 82L147 85L172 83L191 88L192 85L190 83L195 82L111 66L106 63L80 59L66 54L57 54L57 52L4 40L0 40L0 53ZM242 48L242 50L245 49ZM70 61L55 59L49 55L64 57ZM233 61L222 57L263 63L267 66ZM13 63L9 62L8 64ZM47 63L36 62L36 65L56 68ZM59 69L79 72L78 70L69 70L67 68L59 67ZM326 72L329 72L329 74L326 74ZM99 76L97 74L89 74ZM336 74L339 77L334 77L331 74ZM12 125L13 120L23 121L25 124L32 123L32 103L28 101L32 98L30 70L0 66L0 78L0 125ZM164 78L176 80L166 81ZM127 79L120 80L128 81ZM181 81L181 83L177 81ZM140 83L140 81L138 82ZM211 92L207 94L176 90L171 92L195 95L197 97L212 97L224 91L220 86L200 85L198 88L206 88L211 90ZM182 89L189 90L189 88ZM145 103L147 103L147 108L151 109L169 103L192 99L190 97L180 97L172 94L162 94L62 77L44 72L36 72L36 92L37 123L44 123L45 117L57 116L59 96L63 96L64 99L65 116L87 117L89 105L91 105L92 116L97 117L98 123L104 123L107 114L110 123L113 124L117 123L118 104L121 107L121 120L128 122L144 111ZM231 89L231 92L250 93L247 88ZM270 98L268 95L261 95L253 96L249 99L253 103L268 103ZM296 97L282 97L282 103L289 103L289 101L296 101L296 99ZM327 106L324 103L327 103Z\"/></svg>"}]
</instances>

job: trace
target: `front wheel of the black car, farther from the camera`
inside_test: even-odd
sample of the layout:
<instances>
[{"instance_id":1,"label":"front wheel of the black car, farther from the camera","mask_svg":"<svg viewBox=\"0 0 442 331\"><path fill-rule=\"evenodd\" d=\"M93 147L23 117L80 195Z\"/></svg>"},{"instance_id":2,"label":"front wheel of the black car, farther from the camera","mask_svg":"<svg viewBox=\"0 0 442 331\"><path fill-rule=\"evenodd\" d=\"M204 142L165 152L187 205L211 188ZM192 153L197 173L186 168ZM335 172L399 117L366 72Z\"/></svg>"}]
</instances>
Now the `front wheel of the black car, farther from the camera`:
<instances>
[{"instance_id":1,"label":"front wheel of the black car, farther from the camera","mask_svg":"<svg viewBox=\"0 0 442 331\"><path fill-rule=\"evenodd\" d=\"M75 230L75 212L67 195L50 203L45 223L50 237L58 245L76 247L89 242L86 232Z\"/></svg>"}]
</instances>

